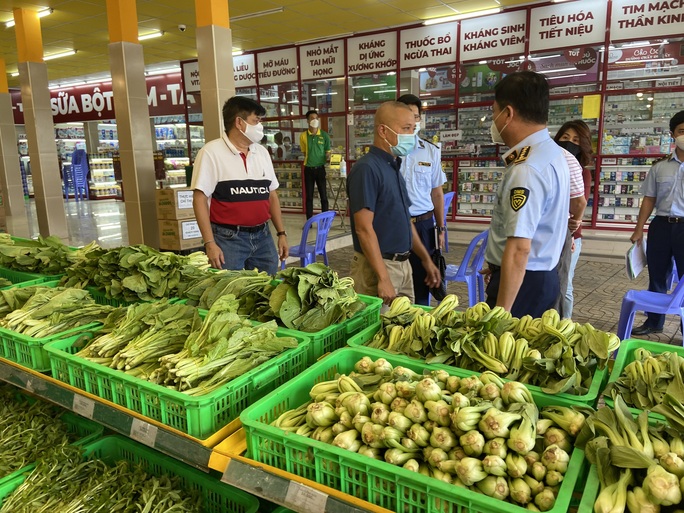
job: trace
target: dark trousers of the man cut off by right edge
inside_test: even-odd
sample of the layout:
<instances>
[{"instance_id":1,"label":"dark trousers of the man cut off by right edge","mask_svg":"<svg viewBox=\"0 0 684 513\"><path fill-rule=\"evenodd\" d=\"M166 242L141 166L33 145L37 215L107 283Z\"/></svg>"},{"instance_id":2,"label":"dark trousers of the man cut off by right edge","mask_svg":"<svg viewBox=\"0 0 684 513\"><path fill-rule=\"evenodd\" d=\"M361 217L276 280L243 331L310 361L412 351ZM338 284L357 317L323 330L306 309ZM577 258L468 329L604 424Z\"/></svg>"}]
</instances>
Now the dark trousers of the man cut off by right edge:
<instances>
[{"instance_id":1,"label":"dark trousers of the man cut off by right edge","mask_svg":"<svg viewBox=\"0 0 684 513\"><path fill-rule=\"evenodd\" d=\"M684 223L668 223L666 217L656 216L648 228L646 243L648 290L667 293L673 257L681 280L684 275ZM663 314L648 313L647 326L662 329L664 324Z\"/></svg>"}]
</instances>

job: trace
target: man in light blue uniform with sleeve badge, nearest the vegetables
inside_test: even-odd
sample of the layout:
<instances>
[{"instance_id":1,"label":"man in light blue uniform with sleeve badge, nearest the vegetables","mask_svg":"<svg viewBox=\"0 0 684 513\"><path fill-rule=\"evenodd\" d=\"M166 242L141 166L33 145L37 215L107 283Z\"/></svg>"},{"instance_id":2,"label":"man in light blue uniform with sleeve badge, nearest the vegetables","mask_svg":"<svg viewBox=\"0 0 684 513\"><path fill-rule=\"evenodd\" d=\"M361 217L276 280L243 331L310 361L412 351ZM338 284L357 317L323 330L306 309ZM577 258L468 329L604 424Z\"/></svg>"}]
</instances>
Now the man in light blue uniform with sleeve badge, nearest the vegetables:
<instances>
[{"instance_id":1,"label":"man in light blue uniform with sleeve badge, nearest the vegetables","mask_svg":"<svg viewBox=\"0 0 684 513\"><path fill-rule=\"evenodd\" d=\"M558 297L556 266L568 226L570 171L546 128L544 75L511 73L495 87L492 140L510 147L499 185L485 258L487 303L515 317L540 317Z\"/></svg>"}]
</instances>

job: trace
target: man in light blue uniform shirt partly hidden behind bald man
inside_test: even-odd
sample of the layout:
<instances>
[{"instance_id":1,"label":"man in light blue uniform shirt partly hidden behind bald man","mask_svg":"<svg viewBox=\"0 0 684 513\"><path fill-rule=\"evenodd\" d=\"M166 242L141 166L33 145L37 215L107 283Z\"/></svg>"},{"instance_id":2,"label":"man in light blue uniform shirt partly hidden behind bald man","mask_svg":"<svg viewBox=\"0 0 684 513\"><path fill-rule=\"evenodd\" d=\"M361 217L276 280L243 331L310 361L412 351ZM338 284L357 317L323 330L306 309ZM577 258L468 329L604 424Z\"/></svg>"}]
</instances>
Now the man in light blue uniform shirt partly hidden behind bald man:
<instances>
[{"instance_id":1,"label":"man in light blue uniform shirt partly hidden behind bald man","mask_svg":"<svg viewBox=\"0 0 684 513\"><path fill-rule=\"evenodd\" d=\"M404 157L401 163L401 175L406 182L411 206L409 213L416 227L423 246L432 254L435 246L435 230L439 233L439 246L444 244L444 191L442 185L446 176L442 171L442 150L439 146L418 137L420 130L420 99L412 94L405 94L397 99L405 103L413 112L416 120L416 146ZM413 271L413 289L417 305L430 304L430 288L425 284L425 267L413 252L409 257Z\"/></svg>"}]
</instances>

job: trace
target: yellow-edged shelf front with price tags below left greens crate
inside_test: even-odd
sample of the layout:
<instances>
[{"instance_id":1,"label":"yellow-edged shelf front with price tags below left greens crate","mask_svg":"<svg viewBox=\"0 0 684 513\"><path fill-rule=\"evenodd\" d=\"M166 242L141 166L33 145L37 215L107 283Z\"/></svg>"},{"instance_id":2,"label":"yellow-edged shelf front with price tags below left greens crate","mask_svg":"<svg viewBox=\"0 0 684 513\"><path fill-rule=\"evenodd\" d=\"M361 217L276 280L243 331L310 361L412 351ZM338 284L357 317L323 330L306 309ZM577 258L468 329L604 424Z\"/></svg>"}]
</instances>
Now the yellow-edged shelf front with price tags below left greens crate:
<instances>
[{"instance_id":1,"label":"yellow-edged shelf front with price tags below left greens crate","mask_svg":"<svg viewBox=\"0 0 684 513\"><path fill-rule=\"evenodd\" d=\"M239 427L238 422L233 422L211 438L198 440L3 358L0 358L0 380L205 471L209 470L211 447Z\"/></svg>"}]
</instances>

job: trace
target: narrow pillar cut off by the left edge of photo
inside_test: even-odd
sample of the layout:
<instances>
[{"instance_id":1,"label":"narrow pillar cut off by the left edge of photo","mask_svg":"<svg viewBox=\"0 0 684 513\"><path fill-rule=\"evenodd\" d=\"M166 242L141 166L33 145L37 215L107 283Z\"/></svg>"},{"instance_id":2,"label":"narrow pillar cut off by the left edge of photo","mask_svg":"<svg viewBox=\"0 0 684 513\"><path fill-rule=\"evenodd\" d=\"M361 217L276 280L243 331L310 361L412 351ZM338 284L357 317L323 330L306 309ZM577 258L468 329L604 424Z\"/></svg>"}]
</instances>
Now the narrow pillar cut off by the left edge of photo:
<instances>
[{"instance_id":1,"label":"narrow pillar cut off by the left edge of photo","mask_svg":"<svg viewBox=\"0 0 684 513\"><path fill-rule=\"evenodd\" d=\"M2 187L5 214L8 216L26 215L12 98L7 84L5 60L2 58L0 58L0 187Z\"/></svg>"}]
</instances>

